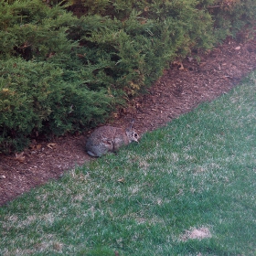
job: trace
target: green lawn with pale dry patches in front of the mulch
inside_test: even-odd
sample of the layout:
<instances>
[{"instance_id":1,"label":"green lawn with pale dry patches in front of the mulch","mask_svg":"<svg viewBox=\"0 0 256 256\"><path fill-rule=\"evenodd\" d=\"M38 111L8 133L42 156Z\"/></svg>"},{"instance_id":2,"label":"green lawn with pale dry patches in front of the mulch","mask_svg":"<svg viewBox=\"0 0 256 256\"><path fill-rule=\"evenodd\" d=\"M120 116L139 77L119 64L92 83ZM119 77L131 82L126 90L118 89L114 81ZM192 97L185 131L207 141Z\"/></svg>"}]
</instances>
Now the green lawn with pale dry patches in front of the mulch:
<instances>
[{"instance_id":1,"label":"green lawn with pale dry patches in front of the mulch","mask_svg":"<svg viewBox=\"0 0 256 256\"><path fill-rule=\"evenodd\" d=\"M256 255L255 159L252 73L140 144L0 208L0 255ZM192 239L194 229L210 235Z\"/></svg>"}]
</instances>

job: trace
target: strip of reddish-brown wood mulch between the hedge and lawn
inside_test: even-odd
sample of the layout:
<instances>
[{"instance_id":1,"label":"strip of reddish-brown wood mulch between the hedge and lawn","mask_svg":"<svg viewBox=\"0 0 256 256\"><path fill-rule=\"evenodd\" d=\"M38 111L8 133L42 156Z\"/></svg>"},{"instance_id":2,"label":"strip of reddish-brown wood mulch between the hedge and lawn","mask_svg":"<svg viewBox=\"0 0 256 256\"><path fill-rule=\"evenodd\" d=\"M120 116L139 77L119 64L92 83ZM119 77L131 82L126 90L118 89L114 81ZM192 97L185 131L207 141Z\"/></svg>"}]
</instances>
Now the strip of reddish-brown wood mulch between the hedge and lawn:
<instances>
[{"instance_id":1,"label":"strip of reddish-brown wood mulch between the hedge and lawn","mask_svg":"<svg viewBox=\"0 0 256 256\"><path fill-rule=\"evenodd\" d=\"M127 126L134 119L133 127L142 134L229 91L256 69L256 37L245 43L227 39L219 48L199 57L199 64L193 54L182 63L173 63L146 95L113 113L110 123ZM87 136L84 133L51 142L34 141L19 155L0 155L0 206L89 161L91 157L84 151Z\"/></svg>"}]
</instances>

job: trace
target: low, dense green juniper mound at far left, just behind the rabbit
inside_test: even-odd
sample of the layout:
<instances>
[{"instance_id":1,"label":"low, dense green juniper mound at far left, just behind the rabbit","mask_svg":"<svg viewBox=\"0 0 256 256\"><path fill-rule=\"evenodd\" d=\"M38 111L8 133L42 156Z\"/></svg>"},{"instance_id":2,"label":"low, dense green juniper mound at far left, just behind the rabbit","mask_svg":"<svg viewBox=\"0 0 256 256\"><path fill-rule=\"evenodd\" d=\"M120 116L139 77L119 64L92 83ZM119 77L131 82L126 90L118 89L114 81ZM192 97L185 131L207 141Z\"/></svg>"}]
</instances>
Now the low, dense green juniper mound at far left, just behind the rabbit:
<instances>
[{"instance_id":1,"label":"low, dense green juniper mound at far left, just behind the rabbit","mask_svg":"<svg viewBox=\"0 0 256 256\"><path fill-rule=\"evenodd\" d=\"M22 149L31 134L61 134L95 125L111 103L107 90L90 91L65 81L63 69L51 63L0 61L1 149Z\"/></svg>"}]
</instances>

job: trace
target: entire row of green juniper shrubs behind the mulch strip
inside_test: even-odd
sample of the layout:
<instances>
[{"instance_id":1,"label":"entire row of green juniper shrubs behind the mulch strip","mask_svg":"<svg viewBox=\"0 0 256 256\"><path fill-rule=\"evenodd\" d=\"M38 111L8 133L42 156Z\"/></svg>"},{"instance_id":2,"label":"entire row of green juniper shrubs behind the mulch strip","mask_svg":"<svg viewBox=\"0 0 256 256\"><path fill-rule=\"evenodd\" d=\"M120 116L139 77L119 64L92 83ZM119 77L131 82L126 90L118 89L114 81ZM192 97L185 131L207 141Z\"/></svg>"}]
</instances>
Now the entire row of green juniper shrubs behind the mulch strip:
<instances>
[{"instance_id":1,"label":"entire row of green juniper shrubs behind the mulch strip","mask_svg":"<svg viewBox=\"0 0 256 256\"><path fill-rule=\"evenodd\" d=\"M235 36L256 14L253 0L0 5L0 152L21 150L34 133L101 122L157 80L170 61Z\"/></svg>"}]
</instances>

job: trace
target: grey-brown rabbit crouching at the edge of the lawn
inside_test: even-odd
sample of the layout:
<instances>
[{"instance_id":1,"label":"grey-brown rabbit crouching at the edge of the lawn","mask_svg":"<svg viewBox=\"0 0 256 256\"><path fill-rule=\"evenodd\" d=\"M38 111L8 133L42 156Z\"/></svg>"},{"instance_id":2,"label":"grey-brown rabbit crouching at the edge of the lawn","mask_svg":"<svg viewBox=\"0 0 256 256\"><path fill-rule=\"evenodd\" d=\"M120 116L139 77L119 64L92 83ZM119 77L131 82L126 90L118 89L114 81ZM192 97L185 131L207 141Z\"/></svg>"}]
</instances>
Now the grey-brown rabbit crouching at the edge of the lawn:
<instances>
[{"instance_id":1,"label":"grey-brown rabbit crouching at the edge of the lawn","mask_svg":"<svg viewBox=\"0 0 256 256\"><path fill-rule=\"evenodd\" d=\"M123 129L113 126L97 128L86 142L89 155L99 157L108 152L115 152L122 145L138 142L139 135L131 128Z\"/></svg>"}]
</instances>

